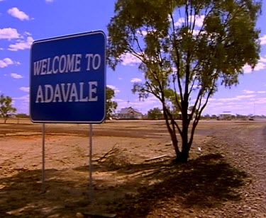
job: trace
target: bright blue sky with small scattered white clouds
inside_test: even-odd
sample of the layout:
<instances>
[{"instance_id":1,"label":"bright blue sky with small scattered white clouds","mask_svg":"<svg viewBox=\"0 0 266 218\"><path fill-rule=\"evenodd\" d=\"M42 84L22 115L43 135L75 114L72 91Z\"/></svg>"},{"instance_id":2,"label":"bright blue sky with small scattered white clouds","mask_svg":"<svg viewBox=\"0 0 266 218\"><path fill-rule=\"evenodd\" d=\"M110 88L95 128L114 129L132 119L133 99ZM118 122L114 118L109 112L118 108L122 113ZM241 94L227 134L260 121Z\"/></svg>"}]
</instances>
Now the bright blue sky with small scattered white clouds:
<instances>
[{"instance_id":1,"label":"bright blue sky with small scattered white clouds","mask_svg":"<svg viewBox=\"0 0 266 218\"><path fill-rule=\"evenodd\" d=\"M113 16L113 0L0 0L0 93L13 98L18 113L28 113L30 48L34 40L92 30L103 30ZM266 2L265 2L266 4ZM254 71L245 67L239 84L220 86L204 114L223 111L266 115L266 6L257 22L260 28L260 61ZM107 67L106 84L116 91L118 110L127 106L147 113L160 103L153 97L138 101L131 93L135 81L143 81L136 60L124 57L116 71Z\"/></svg>"}]
</instances>

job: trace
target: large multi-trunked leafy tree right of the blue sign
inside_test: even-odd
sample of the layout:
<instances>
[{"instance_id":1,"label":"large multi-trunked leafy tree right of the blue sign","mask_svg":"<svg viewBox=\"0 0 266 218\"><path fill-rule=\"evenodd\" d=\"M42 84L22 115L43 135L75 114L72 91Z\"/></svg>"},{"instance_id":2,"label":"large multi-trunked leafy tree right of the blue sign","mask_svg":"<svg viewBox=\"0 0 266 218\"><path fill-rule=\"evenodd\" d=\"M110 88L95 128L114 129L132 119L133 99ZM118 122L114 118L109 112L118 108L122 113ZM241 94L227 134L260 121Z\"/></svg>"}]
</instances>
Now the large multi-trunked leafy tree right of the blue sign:
<instances>
[{"instance_id":1,"label":"large multi-trunked leafy tree right of the blue sign","mask_svg":"<svg viewBox=\"0 0 266 218\"><path fill-rule=\"evenodd\" d=\"M238 84L243 67L257 64L260 9L261 1L251 0L116 1L108 25L109 66L115 69L125 54L140 60L145 82L134 84L133 93L162 103L177 161L187 162L201 113L218 86ZM181 123L172 105L182 113Z\"/></svg>"}]
</instances>

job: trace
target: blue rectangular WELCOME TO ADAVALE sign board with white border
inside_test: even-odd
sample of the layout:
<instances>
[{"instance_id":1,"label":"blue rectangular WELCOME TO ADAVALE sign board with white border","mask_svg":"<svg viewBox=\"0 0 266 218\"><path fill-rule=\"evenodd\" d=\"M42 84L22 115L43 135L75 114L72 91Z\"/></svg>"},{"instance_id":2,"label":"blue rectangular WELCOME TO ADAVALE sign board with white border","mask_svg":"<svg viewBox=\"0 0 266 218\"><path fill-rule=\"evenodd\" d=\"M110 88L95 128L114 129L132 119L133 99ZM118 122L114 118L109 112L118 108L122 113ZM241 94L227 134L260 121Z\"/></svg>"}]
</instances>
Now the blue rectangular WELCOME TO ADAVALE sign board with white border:
<instances>
[{"instance_id":1,"label":"blue rectangular WELCOME TO ADAVALE sign board with white border","mask_svg":"<svg viewBox=\"0 0 266 218\"><path fill-rule=\"evenodd\" d=\"M106 36L102 31L33 42L33 122L100 123L106 115Z\"/></svg>"}]
</instances>

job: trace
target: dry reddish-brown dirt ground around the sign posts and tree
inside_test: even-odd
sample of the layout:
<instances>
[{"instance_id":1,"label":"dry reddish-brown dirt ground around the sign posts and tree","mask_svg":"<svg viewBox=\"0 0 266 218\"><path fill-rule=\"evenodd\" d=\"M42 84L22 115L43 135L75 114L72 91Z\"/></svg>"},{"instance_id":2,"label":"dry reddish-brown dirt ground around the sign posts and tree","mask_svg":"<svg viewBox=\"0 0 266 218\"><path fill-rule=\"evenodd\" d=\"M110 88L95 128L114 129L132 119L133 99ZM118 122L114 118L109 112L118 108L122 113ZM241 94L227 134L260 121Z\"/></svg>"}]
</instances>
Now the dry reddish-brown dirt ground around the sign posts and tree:
<instances>
[{"instance_id":1,"label":"dry reddish-brown dirt ground around the sign posts and tree","mask_svg":"<svg viewBox=\"0 0 266 218\"><path fill-rule=\"evenodd\" d=\"M45 125L42 193L42 126L8 120L0 123L0 217L266 217L265 124L200 122L190 161L179 165L162 121L93 125L89 199L89 125Z\"/></svg>"}]
</instances>

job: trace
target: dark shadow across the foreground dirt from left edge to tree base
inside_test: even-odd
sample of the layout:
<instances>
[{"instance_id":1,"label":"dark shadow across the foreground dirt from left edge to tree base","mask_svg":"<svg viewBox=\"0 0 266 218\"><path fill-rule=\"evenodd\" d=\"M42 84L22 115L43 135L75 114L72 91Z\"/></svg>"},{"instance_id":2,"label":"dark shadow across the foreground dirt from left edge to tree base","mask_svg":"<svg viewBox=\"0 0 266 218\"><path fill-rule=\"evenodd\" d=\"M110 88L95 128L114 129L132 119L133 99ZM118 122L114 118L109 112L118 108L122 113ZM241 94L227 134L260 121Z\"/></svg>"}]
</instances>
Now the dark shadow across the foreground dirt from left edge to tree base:
<instances>
[{"instance_id":1,"label":"dark shadow across the foreground dirt from left edge to tree base","mask_svg":"<svg viewBox=\"0 0 266 218\"><path fill-rule=\"evenodd\" d=\"M180 165L173 164L170 159L116 167L97 164L95 173L111 172L126 179L110 186L109 181L95 177L98 196L113 193L113 200L96 198L94 204L88 205L82 203L87 195L87 171L87 166L74 168L76 174L69 179L66 171L47 170L48 191L45 194L40 193L40 170L19 171L14 176L0 178L0 216L21 210L16 212L16 217L52 214L73 217L76 212L92 211L95 205L101 205L104 212L116 213L118 217L146 217L165 207L165 202L181 208L221 207L223 202L240 200L237 189L247 177L246 173L226 163L221 154L200 156Z\"/></svg>"}]
</instances>

